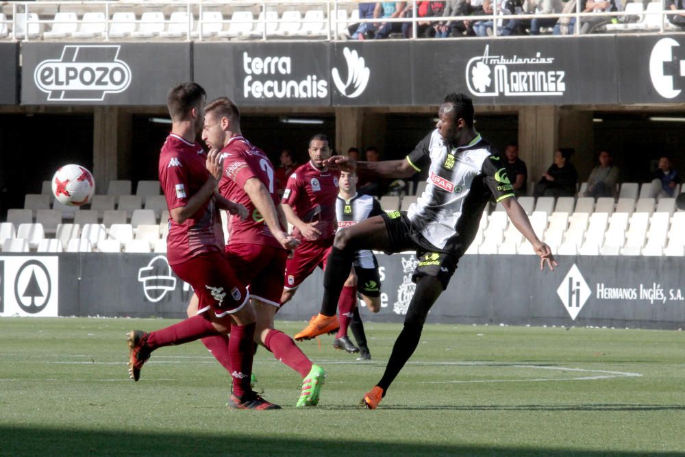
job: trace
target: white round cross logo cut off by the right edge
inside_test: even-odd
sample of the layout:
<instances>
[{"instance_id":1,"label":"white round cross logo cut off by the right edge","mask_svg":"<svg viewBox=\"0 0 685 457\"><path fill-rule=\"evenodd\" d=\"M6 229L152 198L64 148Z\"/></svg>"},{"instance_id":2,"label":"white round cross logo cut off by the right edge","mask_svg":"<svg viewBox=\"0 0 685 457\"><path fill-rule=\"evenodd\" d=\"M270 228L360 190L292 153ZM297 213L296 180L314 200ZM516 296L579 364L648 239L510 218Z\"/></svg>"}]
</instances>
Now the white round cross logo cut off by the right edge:
<instances>
[{"instance_id":1,"label":"white round cross logo cut off by the right edge","mask_svg":"<svg viewBox=\"0 0 685 457\"><path fill-rule=\"evenodd\" d=\"M659 95L673 99L680 95L685 86L685 53L673 38L662 38L656 42L649 56L649 77Z\"/></svg>"}]
</instances>

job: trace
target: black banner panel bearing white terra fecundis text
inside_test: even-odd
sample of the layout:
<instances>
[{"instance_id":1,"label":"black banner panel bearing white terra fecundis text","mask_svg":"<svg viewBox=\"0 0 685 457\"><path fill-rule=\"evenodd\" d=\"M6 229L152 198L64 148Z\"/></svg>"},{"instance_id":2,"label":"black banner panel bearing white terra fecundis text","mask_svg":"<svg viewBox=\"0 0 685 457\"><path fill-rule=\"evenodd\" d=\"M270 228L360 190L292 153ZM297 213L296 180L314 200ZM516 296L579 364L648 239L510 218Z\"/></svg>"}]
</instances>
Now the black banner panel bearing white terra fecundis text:
<instances>
[{"instance_id":1,"label":"black banner panel bearing white terra fecundis text","mask_svg":"<svg viewBox=\"0 0 685 457\"><path fill-rule=\"evenodd\" d=\"M327 42L195 43L195 81L238 106L330 106Z\"/></svg>"}]
</instances>

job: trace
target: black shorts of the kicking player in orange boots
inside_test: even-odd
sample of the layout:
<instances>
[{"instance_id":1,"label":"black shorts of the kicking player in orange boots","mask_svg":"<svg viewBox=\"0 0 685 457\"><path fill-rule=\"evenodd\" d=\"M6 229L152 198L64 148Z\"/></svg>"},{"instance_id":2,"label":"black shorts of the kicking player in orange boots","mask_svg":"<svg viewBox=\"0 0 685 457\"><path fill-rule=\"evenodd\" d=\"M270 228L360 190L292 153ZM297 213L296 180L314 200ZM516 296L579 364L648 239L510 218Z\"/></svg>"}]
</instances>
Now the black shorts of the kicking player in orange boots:
<instances>
[{"instance_id":1,"label":"black shorts of the kicking player in orange boots","mask_svg":"<svg viewBox=\"0 0 685 457\"><path fill-rule=\"evenodd\" d=\"M393 251L388 254L415 250L419 263L412 274L412 281L416 282L416 278L421 276L432 276L443 284L445 290L457 269L460 256L429 243L409 221L406 212L392 211L382 214L382 217L386 223L390 245L393 246Z\"/></svg>"}]
</instances>

